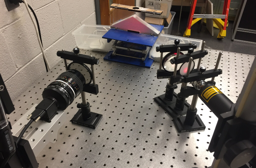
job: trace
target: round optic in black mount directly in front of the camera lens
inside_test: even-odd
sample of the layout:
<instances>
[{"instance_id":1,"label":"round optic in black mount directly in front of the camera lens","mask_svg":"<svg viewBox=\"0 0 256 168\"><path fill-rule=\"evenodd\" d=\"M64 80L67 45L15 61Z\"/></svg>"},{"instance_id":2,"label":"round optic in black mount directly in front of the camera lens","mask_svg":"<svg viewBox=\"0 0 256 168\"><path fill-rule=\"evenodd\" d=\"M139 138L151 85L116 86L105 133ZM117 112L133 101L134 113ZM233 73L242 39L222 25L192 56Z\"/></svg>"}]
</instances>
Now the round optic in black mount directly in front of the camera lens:
<instances>
[{"instance_id":1,"label":"round optic in black mount directly in front of the camera lens","mask_svg":"<svg viewBox=\"0 0 256 168\"><path fill-rule=\"evenodd\" d=\"M85 86L92 83L92 76L93 76L92 71L84 63L71 62L68 65L68 69L75 69L75 70L78 70L79 72L81 72L83 74L83 76L85 77Z\"/></svg>"}]
</instances>

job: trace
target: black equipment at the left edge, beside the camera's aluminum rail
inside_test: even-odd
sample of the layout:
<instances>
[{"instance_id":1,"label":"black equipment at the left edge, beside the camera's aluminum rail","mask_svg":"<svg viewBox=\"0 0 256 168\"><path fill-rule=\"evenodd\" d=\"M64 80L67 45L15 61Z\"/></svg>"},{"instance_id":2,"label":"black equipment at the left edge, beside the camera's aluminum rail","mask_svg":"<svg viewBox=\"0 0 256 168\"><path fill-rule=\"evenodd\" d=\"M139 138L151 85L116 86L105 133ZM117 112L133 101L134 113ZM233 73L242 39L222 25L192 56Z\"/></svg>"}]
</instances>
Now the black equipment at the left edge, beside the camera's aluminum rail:
<instances>
[{"instance_id":1,"label":"black equipment at the left edge, beside the camera's aluminum rail","mask_svg":"<svg viewBox=\"0 0 256 168\"><path fill-rule=\"evenodd\" d=\"M0 89L0 108L2 108L0 115L11 114L15 108L1 74ZM0 168L37 168L38 163L29 142L21 139L19 143L16 143L18 137L12 135L11 129L9 121L5 127L0 129Z\"/></svg>"}]
</instances>

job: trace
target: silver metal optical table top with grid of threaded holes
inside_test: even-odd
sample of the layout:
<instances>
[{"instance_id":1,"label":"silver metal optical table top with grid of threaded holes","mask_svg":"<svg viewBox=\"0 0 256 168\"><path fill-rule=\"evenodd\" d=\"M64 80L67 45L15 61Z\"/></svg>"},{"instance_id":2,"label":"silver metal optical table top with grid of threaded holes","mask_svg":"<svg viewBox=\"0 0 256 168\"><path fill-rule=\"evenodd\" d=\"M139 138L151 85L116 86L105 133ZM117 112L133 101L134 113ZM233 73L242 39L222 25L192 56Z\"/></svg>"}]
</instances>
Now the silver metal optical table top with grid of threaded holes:
<instances>
[{"instance_id":1,"label":"silver metal optical table top with grid of threaded holes","mask_svg":"<svg viewBox=\"0 0 256 168\"><path fill-rule=\"evenodd\" d=\"M201 63L213 69L220 51L208 49L208 52ZM78 111L76 105L82 102L78 96L65 110L67 120L58 132L57 141L47 144L36 157L40 168L207 168L211 165L214 157L207 148L217 118L198 99L197 114L206 130L177 133L172 118L153 101L164 93L168 83L168 79L156 78L159 63L148 69L105 61L106 52L81 50L81 53L100 58L100 64L94 66L100 92L87 93L86 97L91 111L103 114L103 118L95 130L72 124L70 120ZM255 56L225 51L222 56L219 68L223 74L215 78L216 86L236 102ZM64 63L60 61L14 101L15 111L7 115L12 125L41 102L43 89L64 71ZM180 85L175 91L179 90ZM187 98L189 103L191 100L192 96Z\"/></svg>"}]
</instances>

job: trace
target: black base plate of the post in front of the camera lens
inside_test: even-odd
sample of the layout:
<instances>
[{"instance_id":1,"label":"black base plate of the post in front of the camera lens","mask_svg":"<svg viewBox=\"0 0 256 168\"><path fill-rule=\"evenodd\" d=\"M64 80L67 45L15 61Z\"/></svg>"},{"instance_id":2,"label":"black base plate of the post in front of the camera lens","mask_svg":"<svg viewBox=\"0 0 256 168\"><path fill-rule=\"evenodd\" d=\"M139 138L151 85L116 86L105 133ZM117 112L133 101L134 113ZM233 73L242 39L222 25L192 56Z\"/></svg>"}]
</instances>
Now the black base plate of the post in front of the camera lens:
<instances>
[{"instance_id":1,"label":"black base plate of the post in front of the camera lens","mask_svg":"<svg viewBox=\"0 0 256 168\"><path fill-rule=\"evenodd\" d=\"M80 125L95 129L97 125L100 123L100 120L102 119L102 117L103 117L102 114L91 112L91 118L89 120L84 121L82 117L81 109L79 109L78 112L70 121L74 124L80 124Z\"/></svg>"}]
</instances>

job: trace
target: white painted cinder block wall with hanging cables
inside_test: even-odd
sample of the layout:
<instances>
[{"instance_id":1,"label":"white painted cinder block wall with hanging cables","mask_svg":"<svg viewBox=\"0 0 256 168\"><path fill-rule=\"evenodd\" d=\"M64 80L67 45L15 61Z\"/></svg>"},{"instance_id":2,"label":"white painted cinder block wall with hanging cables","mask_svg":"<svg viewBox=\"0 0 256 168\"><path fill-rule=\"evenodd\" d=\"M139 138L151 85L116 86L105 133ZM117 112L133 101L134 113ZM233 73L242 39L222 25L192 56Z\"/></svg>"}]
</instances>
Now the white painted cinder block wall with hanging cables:
<instances>
[{"instance_id":1,"label":"white painted cinder block wall with hanging cables","mask_svg":"<svg viewBox=\"0 0 256 168\"><path fill-rule=\"evenodd\" d=\"M81 24L96 25L94 0L27 0L38 17L43 48L52 68L56 52L76 47L72 32ZM46 73L33 23L24 3L8 12L0 1L0 73L15 100Z\"/></svg>"}]
</instances>

